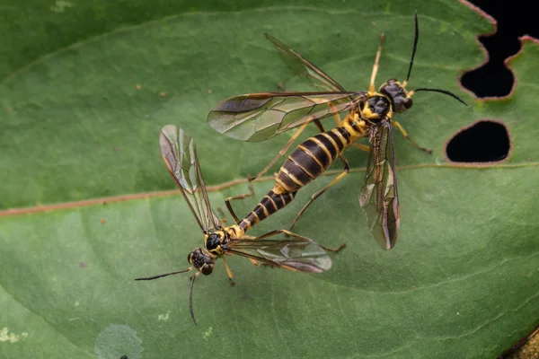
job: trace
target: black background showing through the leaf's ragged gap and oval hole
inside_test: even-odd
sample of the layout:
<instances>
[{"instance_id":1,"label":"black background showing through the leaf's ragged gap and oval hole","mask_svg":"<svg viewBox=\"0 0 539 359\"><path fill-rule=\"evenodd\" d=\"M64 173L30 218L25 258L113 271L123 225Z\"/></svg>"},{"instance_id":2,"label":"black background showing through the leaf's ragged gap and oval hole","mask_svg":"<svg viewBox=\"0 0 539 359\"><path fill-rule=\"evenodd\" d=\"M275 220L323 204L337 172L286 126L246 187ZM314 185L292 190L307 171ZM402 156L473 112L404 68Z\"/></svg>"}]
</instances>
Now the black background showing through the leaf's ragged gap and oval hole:
<instances>
[{"instance_id":1,"label":"black background showing through the leaf's ragged gap and oval hole","mask_svg":"<svg viewBox=\"0 0 539 359\"><path fill-rule=\"evenodd\" d=\"M465 88L477 97L507 96L513 87L513 74L504 60L520 50L519 37L539 39L539 16L526 1L473 0L483 12L498 22L494 34L480 37L489 53L489 62L462 77ZM464 130L447 144L447 156L455 162L492 162L503 160L509 150L505 127L482 122Z\"/></svg>"}]
</instances>

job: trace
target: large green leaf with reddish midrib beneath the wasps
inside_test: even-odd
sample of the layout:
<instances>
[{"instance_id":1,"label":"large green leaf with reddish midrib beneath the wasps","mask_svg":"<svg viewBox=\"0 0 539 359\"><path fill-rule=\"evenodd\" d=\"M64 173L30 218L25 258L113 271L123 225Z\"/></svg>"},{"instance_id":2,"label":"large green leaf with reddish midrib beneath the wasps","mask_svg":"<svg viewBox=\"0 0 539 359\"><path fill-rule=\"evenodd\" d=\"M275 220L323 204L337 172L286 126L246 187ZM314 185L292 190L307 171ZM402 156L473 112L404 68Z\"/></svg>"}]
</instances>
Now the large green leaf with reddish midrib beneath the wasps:
<instances>
[{"instance_id":1,"label":"large green leaf with reddish midrib beneath the wasps","mask_svg":"<svg viewBox=\"0 0 539 359\"><path fill-rule=\"evenodd\" d=\"M234 94L277 91L279 82L308 90L291 80L262 32L345 88L365 90L384 31L377 83L406 74L410 5L268 4L198 11L179 4L172 17L163 17L163 4L146 5L151 13L138 22L129 15L145 13L143 5L121 13L126 5L116 4L105 7L105 14L118 14L101 17L107 26L81 25L93 35L102 32L87 39L75 31L76 20L97 16L100 7L74 3L76 13L65 6L64 13L38 19L65 24L70 42L38 31L30 58L40 59L26 63L31 33L23 32L23 41L10 38L13 54L0 83L0 208L56 206L0 212L0 356L494 357L537 325L539 46L525 41L510 63L518 80L511 97L473 101L457 77L484 60L476 37L492 25L452 1L418 8L420 44L410 86L453 91L471 106L419 92L414 107L398 116L434 154L417 151L395 131L402 204L395 249L380 250L368 234L357 197L367 156L350 149L353 171L295 228L326 246L348 244L333 256L329 272L309 276L230 258L236 286L228 285L222 264L195 283L198 327L190 321L187 275L133 281L187 268L188 253L202 245L181 197L144 196L173 188L158 149L163 125L195 138L205 180L215 186L214 206L246 191L244 182L228 184L260 171L291 136L245 144L206 123L211 106ZM127 23L133 26L122 27ZM446 141L481 118L508 126L508 161L447 163ZM331 119L324 124L330 127ZM253 233L287 227L330 180L316 180ZM234 203L236 212L247 213L271 186L271 180L257 182L256 198ZM134 196L96 200L127 194ZM96 201L68 203L85 200Z\"/></svg>"}]
</instances>

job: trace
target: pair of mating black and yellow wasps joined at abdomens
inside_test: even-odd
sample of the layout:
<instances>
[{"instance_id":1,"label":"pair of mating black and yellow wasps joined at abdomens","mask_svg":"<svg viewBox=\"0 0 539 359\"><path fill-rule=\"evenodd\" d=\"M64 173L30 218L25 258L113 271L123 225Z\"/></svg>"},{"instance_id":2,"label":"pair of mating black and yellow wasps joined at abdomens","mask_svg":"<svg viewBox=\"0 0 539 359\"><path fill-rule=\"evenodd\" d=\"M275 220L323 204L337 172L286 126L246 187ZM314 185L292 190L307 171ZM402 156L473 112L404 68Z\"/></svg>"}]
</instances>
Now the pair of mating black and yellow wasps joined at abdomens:
<instances>
[{"instance_id":1,"label":"pair of mating black and yellow wasps joined at abdomens","mask_svg":"<svg viewBox=\"0 0 539 359\"><path fill-rule=\"evenodd\" d=\"M234 96L221 101L211 109L208 114L209 125L226 136L250 142L267 140L296 128L296 133L278 155L250 180L256 180L269 171L271 166L287 153L309 124L313 123L320 130L320 134L307 138L287 156L275 176L273 188L248 215L242 219L238 218L231 206L231 200L247 197L252 193L226 198L225 205L236 223L224 226L210 206L192 138L173 125L167 125L161 131L160 144L164 162L199 223L204 235L204 247L190 252L188 261L191 267L185 270L137 280L151 280L196 270L195 275L191 276L190 285L190 314L195 324L192 311L193 284L200 273L207 276L212 273L217 258L223 259L230 280L233 279L233 274L226 264L225 256L233 254L249 258L255 265L266 264L302 272L320 273L331 267L331 258L326 251L337 251L344 245L339 249L326 248L291 230L317 197L349 173L349 163L343 153L350 146L369 153L365 183L359 193L359 206L365 212L367 224L376 241L384 250L392 249L400 227L393 126L397 127L415 147L431 153L429 149L420 147L411 140L401 124L393 119L393 114L411 109L412 95L421 91L441 92L464 103L454 93L446 90L432 88L406 90L419 39L417 12L415 37L406 79L402 83L394 79L388 80L377 91L375 80L384 35L381 36L376 51L375 65L367 92L346 91L292 48L270 34L266 34L266 38L278 49L287 66L305 77L319 92L261 92ZM341 113L346 114L342 119ZM326 131L321 120L328 117L335 118L337 127ZM369 145L357 144L358 139L364 137L368 138ZM300 188L318 178L338 160L343 163L343 171L310 197L288 230L280 229L259 237L246 234L254 224L287 206ZM287 234L287 238L271 238L278 234Z\"/></svg>"}]
</instances>

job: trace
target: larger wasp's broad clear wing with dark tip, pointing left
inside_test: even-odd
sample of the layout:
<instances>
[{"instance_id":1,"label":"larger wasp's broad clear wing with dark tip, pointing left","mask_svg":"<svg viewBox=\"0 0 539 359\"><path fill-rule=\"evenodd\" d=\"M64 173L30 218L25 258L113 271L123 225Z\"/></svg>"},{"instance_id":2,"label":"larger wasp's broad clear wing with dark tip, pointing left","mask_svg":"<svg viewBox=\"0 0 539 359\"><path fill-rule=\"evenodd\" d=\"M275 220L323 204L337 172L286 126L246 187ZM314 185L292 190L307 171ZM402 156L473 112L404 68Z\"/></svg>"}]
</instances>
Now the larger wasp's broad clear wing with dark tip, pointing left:
<instances>
[{"instance_id":1,"label":"larger wasp's broad clear wing with dark tip, pointing left","mask_svg":"<svg viewBox=\"0 0 539 359\"><path fill-rule=\"evenodd\" d=\"M221 101L208 114L209 126L250 142L267 140L314 119L352 109L366 92L261 92Z\"/></svg>"}]
</instances>

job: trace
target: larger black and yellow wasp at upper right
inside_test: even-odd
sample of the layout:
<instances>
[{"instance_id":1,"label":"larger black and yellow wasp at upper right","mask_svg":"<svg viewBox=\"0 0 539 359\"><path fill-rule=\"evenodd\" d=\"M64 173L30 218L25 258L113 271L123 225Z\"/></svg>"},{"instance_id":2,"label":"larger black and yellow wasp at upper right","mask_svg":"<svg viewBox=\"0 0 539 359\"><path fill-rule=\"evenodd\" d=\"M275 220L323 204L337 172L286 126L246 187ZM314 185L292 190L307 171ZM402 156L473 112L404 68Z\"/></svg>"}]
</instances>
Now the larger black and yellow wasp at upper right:
<instances>
[{"instance_id":1,"label":"larger black and yellow wasp at upper right","mask_svg":"<svg viewBox=\"0 0 539 359\"><path fill-rule=\"evenodd\" d=\"M339 83L295 50L270 34L265 35L278 49L287 66L305 77L314 87L323 89L323 92L261 92L234 96L219 102L209 112L209 125L226 136L252 142L267 140L299 127L270 164L251 180L261 177L278 161L278 158L285 155L290 145L309 123L314 122L319 128L321 134L308 138L288 155L276 175L275 185L268 196L295 195L298 189L319 177L338 158L343 162L344 170L327 186L311 196L296 215L290 229L316 197L348 174L349 164L342 153L349 146L369 151L365 184L359 194L359 205L367 216L367 223L376 241L383 249L392 249L397 241L400 223L392 126L399 128L411 144L431 153L411 140L401 124L393 120L393 114L410 109L411 96L420 91L442 92L464 103L454 93L445 90L428 88L406 90L419 39L417 12L415 38L406 80L400 83L391 79L383 83L378 91L375 90L375 79L384 35L381 36L376 51L375 65L367 92L347 92ZM346 111L348 114L341 120L340 112ZM330 131L324 131L320 119L331 115L335 117L338 126ZM366 136L370 146L355 144L359 138Z\"/></svg>"}]
</instances>

